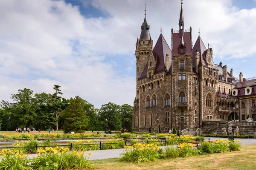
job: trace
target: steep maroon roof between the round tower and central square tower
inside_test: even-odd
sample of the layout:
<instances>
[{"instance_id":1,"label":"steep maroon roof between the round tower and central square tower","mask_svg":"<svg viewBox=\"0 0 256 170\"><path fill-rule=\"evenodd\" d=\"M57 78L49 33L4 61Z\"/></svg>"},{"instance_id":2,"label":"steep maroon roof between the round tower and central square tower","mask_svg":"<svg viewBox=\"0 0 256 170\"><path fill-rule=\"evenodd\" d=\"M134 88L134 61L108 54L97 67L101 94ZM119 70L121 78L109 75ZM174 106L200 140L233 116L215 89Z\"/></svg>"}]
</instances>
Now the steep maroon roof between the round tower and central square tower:
<instances>
[{"instance_id":1,"label":"steep maroon roof between the round tower and central square tower","mask_svg":"<svg viewBox=\"0 0 256 170\"><path fill-rule=\"evenodd\" d=\"M155 74L165 70L169 71L169 68L165 67L166 54L169 54L169 68L170 68L172 65L172 51L169 45L167 44L165 38L163 37L163 34L160 34L153 50L154 58L157 61Z\"/></svg>"}]
</instances>

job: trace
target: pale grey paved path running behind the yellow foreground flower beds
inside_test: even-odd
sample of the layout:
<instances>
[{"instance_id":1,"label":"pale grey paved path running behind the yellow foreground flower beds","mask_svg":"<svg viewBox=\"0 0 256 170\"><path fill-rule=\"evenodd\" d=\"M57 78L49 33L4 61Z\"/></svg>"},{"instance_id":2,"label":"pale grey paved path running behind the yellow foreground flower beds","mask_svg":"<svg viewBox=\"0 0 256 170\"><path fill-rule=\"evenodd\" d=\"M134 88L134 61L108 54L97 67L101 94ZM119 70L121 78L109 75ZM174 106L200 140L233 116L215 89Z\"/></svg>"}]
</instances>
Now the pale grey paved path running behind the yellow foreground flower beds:
<instances>
[{"instance_id":1,"label":"pale grey paved path running behind the yellow foreground flower beds","mask_svg":"<svg viewBox=\"0 0 256 170\"><path fill-rule=\"evenodd\" d=\"M206 138L208 140L208 138ZM210 137L210 140L217 140L217 139L226 139L227 138L215 138ZM245 144L256 144L256 139L239 139L242 141L242 145ZM165 146L160 146L160 148L164 148ZM96 160L96 159L109 159L109 158L119 158L120 154L124 152L125 149L113 149L113 150L90 150L84 153L93 153L90 155L89 160ZM36 157L37 154L29 154L29 158Z\"/></svg>"}]
</instances>

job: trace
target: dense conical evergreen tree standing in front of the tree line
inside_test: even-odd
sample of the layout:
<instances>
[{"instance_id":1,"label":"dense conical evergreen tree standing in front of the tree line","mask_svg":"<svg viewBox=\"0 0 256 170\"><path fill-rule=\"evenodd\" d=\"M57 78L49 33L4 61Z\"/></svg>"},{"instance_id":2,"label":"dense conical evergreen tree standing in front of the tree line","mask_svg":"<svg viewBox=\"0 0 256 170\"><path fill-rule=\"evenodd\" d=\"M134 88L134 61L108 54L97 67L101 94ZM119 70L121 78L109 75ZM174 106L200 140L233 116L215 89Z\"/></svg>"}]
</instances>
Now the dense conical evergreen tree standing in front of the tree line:
<instances>
[{"instance_id":1,"label":"dense conical evergreen tree standing in front of the tree line","mask_svg":"<svg viewBox=\"0 0 256 170\"><path fill-rule=\"evenodd\" d=\"M84 100L79 96L76 96L74 99L70 99L70 104L63 112L64 133L70 133L74 130L76 133L82 133L85 131L88 118L84 110Z\"/></svg>"}]
</instances>

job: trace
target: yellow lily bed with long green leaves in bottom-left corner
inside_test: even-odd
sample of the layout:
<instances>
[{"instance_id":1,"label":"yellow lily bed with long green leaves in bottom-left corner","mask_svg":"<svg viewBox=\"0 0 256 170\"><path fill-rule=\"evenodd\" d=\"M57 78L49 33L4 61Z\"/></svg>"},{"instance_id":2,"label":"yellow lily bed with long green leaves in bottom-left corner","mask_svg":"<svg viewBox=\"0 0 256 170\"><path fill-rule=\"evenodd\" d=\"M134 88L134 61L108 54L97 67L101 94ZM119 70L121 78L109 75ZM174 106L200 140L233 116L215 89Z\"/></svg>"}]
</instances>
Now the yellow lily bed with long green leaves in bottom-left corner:
<instances>
[{"instance_id":1,"label":"yellow lily bed with long green leaves in bottom-left corner","mask_svg":"<svg viewBox=\"0 0 256 170\"><path fill-rule=\"evenodd\" d=\"M28 159L20 150L3 149L0 152L0 170L66 170L75 168L93 168L88 159L91 153L68 152L64 147L46 147L38 149L38 157Z\"/></svg>"}]
</instances>

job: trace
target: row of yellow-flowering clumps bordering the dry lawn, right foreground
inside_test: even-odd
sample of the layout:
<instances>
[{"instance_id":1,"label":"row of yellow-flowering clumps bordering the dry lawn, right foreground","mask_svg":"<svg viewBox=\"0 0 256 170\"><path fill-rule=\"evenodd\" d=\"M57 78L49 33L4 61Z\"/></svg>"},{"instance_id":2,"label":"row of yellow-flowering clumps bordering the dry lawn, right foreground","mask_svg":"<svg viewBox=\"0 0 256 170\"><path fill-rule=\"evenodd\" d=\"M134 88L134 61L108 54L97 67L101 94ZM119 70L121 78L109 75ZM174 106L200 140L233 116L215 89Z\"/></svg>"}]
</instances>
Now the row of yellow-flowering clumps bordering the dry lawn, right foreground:
<instances>
[{"instance_id":1,"label":"row of yellow-flowering clumps bordering the dry lawn, right foreground","mask_svg":"<svg viewBox=\"0 0 256 170\"><path fill-rule=\"evenodd\" d=\"M171 136L170 138L175 138L175 136ZM183 136L184 138L189 139L190 136ZM192 143L182 143L179 144L179 148L173 146L165 147L165 152L162 152L156 144L137 143L133 146L125 146L125 148L126 150L121 154L121 161L140 163L156 161L161 158L172 159L177 157L191 157L198 154L241 150L241 141L220 139L214 142L202 142L202 145L198 149L195 149Z\"/></svg>"}]
</instances>

